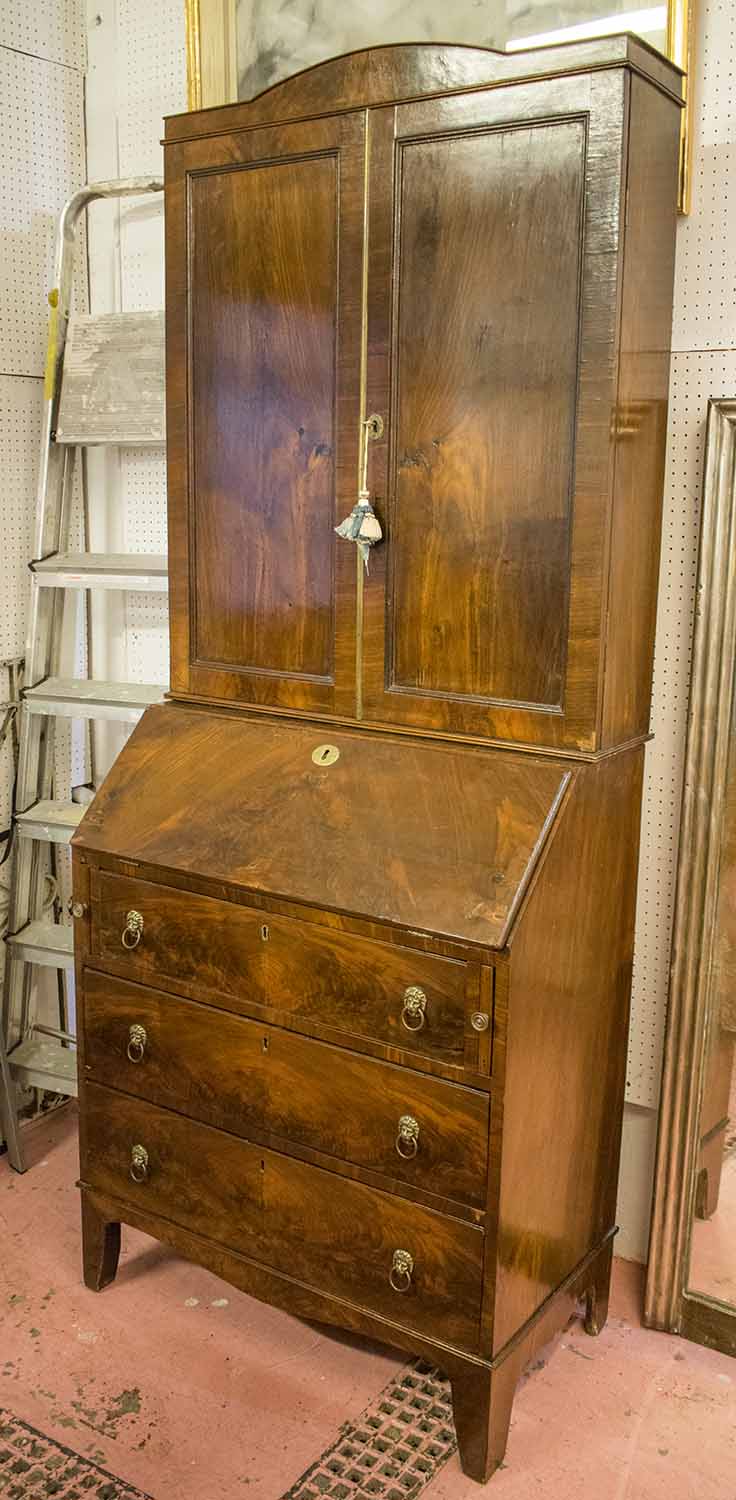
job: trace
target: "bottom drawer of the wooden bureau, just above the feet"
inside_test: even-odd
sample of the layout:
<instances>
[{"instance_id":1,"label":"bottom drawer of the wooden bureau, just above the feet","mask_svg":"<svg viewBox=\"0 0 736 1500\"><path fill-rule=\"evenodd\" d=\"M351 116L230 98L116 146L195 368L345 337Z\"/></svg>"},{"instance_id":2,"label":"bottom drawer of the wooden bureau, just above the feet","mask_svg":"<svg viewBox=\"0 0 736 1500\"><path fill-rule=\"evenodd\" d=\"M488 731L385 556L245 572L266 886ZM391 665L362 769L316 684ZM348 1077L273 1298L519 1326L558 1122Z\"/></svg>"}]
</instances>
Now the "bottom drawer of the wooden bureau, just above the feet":
<instances>
[{"instance_id":1,"label":"bottom drawer of the wooden bureau, just above the feet","mask_svg":"<svg viewBox=\"0 0 736 1500\"><path fill-rule=\"evenodd\" d=\"M84 1088L82 1142L91 1188L328 1296L477 1348L477 1226L94 1083ZM411 1256L411 1274L394 1264L396 1251Z\"/></svg>"}]
</instances>

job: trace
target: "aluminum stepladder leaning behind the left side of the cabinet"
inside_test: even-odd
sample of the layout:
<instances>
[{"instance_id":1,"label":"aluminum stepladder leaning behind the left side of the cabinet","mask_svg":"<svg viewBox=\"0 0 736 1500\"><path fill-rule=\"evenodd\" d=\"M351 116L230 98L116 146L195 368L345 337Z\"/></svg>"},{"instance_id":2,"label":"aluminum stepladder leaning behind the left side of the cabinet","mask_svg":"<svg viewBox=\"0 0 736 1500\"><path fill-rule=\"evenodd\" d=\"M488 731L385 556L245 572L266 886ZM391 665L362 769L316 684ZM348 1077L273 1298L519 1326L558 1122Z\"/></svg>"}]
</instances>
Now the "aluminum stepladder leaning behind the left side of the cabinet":
<instances>
[{"instance_id":1,"label":"aluminum stepladder leaning behind the left side of the cabinet","mask_svg":"<svg viewBox=\"0 0 736 1500\"><path fill-rule=\"evenodd\" d=\"M163 314L70 316L76 230L87 204L162 192L154 177L88 183L64 204L54 250L49 339L43 384L40 465L30 562L25 687L18 714L13 864L0 1024L0 1125L7 1156L25 1170L21 1092L76 1094L76 1052L67 1030L66 982L73 933L43 912L55 848L67 844L84 804L54 800L57 718L135 722L163 696L154 684L58 676L67 590L165 591L166 558L69 552L70 488L78 450L96 444L163 444ZM84 548L88 496L84 494ZM87 594L88 598L88 594ZM88 644L88 642L87 642ZM58 916L58 912L57 912ZM60 1026L34 1018L33 975L54 969Z\"/></svg>"}]
</instances>

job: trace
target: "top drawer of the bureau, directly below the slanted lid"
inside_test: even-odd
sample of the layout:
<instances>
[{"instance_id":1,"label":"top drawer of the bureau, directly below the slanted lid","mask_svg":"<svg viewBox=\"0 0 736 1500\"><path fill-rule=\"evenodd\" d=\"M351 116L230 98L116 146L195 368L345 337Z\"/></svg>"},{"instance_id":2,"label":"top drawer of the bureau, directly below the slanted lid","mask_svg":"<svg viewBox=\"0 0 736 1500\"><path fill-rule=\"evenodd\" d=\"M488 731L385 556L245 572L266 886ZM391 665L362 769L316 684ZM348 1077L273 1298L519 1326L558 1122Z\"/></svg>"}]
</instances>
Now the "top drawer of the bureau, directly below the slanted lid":
<instances>
[{"instance_id":1,"label":"top drawer of the bureau, directly below the slanted lid","mask_svg":"<svg viewBox=\"0 0 736 1500\"><path fill-rule=\"evenodd\" d=\"M127 914L142 918L139 933ZM96 878L91 954L462 1065L468 964L148 880ZM409 998L406 992L420 992ZM412 1010L412 1005L418 1008ZM414 1029L415 1028L415 1029ZM472 1035L472 1032L471 1032Z\"/></svg>"}]
</instances>

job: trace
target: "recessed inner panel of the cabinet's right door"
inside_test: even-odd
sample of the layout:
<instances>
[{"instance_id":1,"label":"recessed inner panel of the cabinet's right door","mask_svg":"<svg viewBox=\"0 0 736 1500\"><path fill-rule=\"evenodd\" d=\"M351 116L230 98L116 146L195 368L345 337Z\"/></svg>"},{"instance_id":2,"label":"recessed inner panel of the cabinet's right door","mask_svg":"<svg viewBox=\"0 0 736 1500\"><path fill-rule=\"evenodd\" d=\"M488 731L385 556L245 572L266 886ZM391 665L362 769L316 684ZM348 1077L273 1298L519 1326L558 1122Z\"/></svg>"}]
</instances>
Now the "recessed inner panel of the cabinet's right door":
<instances>
[{"instance_id":1,"label":"recessed inner panel of the cabinet's right door","mask_svg":"<svg viewBox=\"0 0 736 1500\"><path fill-rule=\"evenodd\" d=\"M402 148L391 687L561 704L583 152L580 120Z\"/></svg>"}]
</instances>

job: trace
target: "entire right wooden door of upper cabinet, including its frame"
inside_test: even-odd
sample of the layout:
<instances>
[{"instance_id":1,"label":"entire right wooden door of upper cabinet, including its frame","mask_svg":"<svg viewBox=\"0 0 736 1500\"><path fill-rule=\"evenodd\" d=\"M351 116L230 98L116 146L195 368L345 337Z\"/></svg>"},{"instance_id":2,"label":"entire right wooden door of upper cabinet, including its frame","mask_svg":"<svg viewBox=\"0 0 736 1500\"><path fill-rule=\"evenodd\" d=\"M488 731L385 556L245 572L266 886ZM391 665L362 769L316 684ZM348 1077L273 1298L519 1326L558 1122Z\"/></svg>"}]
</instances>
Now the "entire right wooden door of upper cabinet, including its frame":
<instances>
[{"instance_id":1,"label":"entire right wooden door of upper cabinet, including its frame","mask_svg":"<svg viewBox=\"0 0 736 1500\"><path fill-rule=\"evenodd\" d=\"M588 747L624 74L376 112L367 718Z\"/></svg>"}]
</instances>

